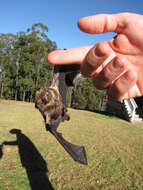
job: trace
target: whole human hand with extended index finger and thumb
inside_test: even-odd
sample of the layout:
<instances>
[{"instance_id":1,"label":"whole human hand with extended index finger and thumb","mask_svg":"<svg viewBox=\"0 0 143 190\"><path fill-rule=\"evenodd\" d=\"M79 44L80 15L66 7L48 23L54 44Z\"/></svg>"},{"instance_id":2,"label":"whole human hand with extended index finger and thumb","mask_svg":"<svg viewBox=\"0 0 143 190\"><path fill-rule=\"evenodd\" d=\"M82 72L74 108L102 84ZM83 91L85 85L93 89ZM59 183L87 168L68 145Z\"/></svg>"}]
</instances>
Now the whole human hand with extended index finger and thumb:
<instances>
[{"instance_id":1,"label":"whole human hand with extended index finger and thumb","mask_svg":"<svg viewBox=\"0 0 143 190\"><path fill-rule=\"evenodd\" d=\"M110 99L143 95L143 16L133 13L99 14L81 18L79 28L89 34L116 32L95 46L56 50L51 64L80 64L98 89L107 89Z\"/></svg>"}]
</instances>

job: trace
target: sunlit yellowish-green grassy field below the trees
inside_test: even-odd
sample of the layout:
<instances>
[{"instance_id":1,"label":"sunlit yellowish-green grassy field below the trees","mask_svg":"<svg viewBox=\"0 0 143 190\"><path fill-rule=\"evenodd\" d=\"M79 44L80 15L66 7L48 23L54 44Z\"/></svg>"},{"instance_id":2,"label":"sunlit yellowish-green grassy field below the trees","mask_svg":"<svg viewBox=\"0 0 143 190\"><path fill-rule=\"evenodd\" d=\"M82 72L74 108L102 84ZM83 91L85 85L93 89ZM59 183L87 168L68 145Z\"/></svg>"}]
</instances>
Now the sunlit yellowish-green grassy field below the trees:
<instances>
[{"instance_id":1,"label":"sunlit yellowish-green grassy field below the trees","mask_svg":"<svg viewBox=\"0 0 143 190\"><path fill-rule=\"evenodd\" d=\"M34 104L0 102L0 190L142 190L143 123L69 112L71 121L59 131L85 146L87 166L45 131Z\"/></svg>"}]
</instances>

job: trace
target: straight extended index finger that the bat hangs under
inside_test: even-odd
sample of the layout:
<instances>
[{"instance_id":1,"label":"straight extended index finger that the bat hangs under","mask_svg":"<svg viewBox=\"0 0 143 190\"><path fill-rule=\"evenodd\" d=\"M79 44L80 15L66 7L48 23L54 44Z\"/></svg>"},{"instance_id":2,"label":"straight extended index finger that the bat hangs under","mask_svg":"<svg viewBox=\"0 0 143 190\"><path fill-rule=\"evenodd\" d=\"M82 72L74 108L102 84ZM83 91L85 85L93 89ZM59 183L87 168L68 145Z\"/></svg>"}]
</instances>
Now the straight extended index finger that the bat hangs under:
<instances>
[{"instance_id":1,"label":"straight extended index finger that the bat hangs under","mask_svg":"<svg viewBox=\"0 0 143 190\"><path fill-rule=\"evenodd\" d=\"M51 64L81 64L92 46L84 46L67 50L56 50L47 55Z\"/></svg>"}]
</instances>

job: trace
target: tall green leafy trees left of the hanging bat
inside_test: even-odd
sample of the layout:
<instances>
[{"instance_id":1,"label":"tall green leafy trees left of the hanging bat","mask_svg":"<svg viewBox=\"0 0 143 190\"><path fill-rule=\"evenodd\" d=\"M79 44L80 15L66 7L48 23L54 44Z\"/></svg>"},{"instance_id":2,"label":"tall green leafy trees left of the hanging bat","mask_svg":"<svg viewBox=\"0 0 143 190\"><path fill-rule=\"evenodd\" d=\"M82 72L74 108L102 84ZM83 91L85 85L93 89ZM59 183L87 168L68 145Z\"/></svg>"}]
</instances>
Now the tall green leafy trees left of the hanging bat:
<instances>
[{"instance_id":1,"label":"tall green leafy trees left of the hanging bat","mask_svg":"<svg viewBox=\"0 0 143 190\"><path fill-rule=\"evenodd\" d=\"M0 97L32 101L37 89L50 84L52 67L45 55L56 49L48 27L36 23L27 32L0 35Z\"/></svg>"}]
</instances>

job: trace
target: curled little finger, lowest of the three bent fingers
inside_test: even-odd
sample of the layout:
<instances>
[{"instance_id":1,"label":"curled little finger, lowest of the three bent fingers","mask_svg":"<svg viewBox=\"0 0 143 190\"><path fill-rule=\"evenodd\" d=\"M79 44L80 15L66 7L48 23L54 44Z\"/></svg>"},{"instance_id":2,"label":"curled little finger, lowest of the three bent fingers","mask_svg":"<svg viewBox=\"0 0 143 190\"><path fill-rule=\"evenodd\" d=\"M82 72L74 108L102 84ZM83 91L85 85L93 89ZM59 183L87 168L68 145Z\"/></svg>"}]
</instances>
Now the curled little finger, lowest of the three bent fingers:
<instances>
[{"instance_id":1,"label":"curled little finger, lowest of the three bent fingers","mask_svg":"<svg viewBox=\"0 0 143 190\"><path fill-rule=\"evenodd\" d=\"M127 92L136 84L136 72L128 70L108 90L110 99L122 100L127 97Z\"/></svg>"}]
</instances>

